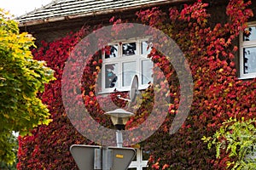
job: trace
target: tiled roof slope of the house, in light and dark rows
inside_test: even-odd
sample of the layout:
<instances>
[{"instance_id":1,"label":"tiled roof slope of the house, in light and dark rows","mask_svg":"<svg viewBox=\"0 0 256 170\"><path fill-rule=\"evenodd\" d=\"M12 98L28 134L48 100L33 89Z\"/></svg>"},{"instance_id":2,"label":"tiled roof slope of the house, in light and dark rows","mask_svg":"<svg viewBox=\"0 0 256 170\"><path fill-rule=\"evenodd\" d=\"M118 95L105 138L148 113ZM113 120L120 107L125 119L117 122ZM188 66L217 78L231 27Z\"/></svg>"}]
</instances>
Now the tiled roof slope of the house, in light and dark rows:
<instances>
[{"instance_id":1,"label":"tiled roof slope of the house, in light and dark rows","mask_svg":"<svg viewBox=\"0 0 256 170\"><path fill-rule=\"evenodd\" d=\"M47 20L77 14L93 14L106 10L132 8L151 3L168 3L178 0L54 0L42 8L33 10L17 18L20 23Z\"/></svg>"}]
</instances>

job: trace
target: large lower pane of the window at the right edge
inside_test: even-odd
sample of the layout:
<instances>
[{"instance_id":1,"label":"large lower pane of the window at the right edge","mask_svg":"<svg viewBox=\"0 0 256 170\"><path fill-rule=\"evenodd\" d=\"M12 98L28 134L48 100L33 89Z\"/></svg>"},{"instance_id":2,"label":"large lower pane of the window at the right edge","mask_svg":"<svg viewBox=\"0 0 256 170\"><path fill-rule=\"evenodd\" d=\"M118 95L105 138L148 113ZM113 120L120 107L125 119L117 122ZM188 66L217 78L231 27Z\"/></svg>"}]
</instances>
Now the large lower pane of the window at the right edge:
<instances>
[{"instance_id":1,"label":"large lower pane of the window at the right edge","mask_svg":"<svg viewBox=\"0 0 256 170\"><path fill-rule=\"evenodd\" d=\"M256 48L243 48L243 72L256 72Z\"/></svg>"}]
</instances>

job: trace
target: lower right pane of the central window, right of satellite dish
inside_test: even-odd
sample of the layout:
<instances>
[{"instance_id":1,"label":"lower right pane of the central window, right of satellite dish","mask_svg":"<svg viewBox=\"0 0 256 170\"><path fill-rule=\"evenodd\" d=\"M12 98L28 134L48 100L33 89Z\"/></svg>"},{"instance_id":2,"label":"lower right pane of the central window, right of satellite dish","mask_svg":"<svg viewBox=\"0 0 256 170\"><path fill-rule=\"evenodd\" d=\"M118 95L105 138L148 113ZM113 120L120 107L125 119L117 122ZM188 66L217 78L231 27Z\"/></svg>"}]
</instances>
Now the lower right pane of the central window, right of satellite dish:
<instances>
[{"instance_id":1,"label":"lower right pane of the central window, right of satellite dish","mask_svg":"<svg viewBox=\"0 0 256 170\"><path fill-rule=\"evenodd\" d=\"M148 84L148 82L153 82L152 78L152 68L153 68L153 62L151 60L143 60L143 84Z\"/></svg>"}]
</instances>

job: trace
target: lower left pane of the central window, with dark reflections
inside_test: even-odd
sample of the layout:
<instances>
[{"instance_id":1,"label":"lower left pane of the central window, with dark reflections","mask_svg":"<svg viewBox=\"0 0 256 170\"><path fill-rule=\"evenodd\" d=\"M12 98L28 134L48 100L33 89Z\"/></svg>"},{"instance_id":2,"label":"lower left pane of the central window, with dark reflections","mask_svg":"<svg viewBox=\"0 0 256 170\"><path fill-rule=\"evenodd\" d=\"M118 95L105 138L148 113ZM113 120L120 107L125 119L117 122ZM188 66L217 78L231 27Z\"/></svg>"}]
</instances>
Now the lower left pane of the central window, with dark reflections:
<instances>
[{"instance_id":1,"label":"lower left pane of the central window, with dark reflections","mask_svg":"<svg viewBox=\"0 0 256 170\"><path fill-rule=\"evenodd\" d=\"M105 88L117 87L117 64L105 65Z\"/></svg>"}]
</instances>

